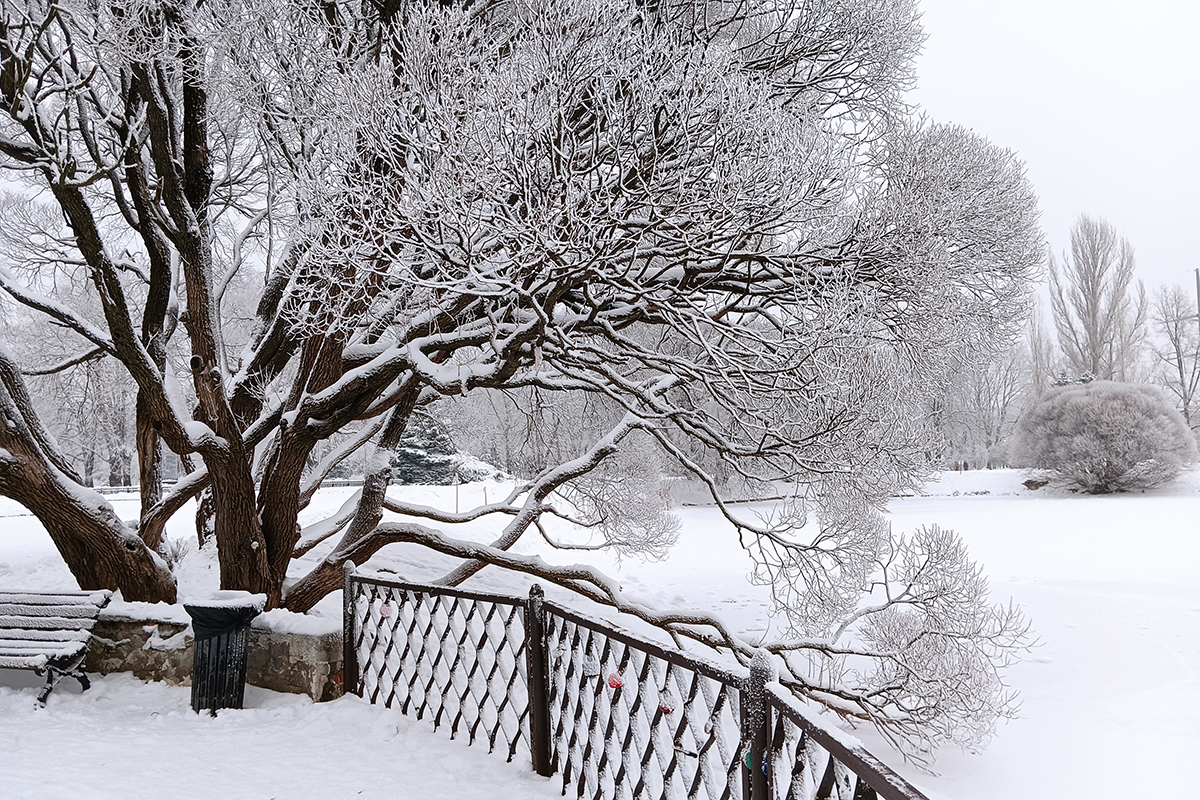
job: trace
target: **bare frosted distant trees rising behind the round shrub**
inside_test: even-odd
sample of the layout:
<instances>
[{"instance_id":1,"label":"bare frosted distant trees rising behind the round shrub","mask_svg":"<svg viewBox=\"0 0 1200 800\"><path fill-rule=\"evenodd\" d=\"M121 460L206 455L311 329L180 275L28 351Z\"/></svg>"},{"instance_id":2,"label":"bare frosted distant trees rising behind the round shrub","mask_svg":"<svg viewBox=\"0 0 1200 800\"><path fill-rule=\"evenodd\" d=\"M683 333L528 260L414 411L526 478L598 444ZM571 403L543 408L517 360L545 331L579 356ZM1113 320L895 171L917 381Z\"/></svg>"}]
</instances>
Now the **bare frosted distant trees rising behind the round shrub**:
<instances>
[{"instance_id":1,"label":"bare frosted distant trees rising behind the round shrub","mask_svg":"<svg viewBox=\"0 0 1200 800\"><path fill-rule=\"evenodd\" d=\"M1091 380L1156 386L1193 435L1200 429L1200 285L1148 294L1129 241L1087 215L1072 228L1069 252L1048 263L1049 315L1032 302L1025 333L964 365L930 404L937 467L1016 465L1021 415L1056 386Z\"/></svg>"}]
</instances>

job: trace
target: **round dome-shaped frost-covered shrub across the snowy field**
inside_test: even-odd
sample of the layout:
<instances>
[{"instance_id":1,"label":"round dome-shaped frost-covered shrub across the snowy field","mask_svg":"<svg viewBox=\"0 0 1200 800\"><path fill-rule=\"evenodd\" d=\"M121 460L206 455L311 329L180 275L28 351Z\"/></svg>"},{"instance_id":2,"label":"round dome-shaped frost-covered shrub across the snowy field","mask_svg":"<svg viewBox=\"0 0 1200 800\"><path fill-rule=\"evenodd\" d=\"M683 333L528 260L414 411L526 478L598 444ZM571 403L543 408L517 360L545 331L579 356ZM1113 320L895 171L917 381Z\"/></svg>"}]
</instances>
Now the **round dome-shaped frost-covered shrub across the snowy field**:
<instances>
[{"instance_id":1,"label":"round dome-shaped frost-covered shrub across the snowy field","mask_svg":"<svg viewBox=\"0 0 1200 800\"><path fill-rule=\"evenodd\" d=\"M1097 380L1046 392L1018 422L1010 457L1108 494L1174 480L1196 459L1196 441L1156 386Z\"/></svg>"}]
</instances>

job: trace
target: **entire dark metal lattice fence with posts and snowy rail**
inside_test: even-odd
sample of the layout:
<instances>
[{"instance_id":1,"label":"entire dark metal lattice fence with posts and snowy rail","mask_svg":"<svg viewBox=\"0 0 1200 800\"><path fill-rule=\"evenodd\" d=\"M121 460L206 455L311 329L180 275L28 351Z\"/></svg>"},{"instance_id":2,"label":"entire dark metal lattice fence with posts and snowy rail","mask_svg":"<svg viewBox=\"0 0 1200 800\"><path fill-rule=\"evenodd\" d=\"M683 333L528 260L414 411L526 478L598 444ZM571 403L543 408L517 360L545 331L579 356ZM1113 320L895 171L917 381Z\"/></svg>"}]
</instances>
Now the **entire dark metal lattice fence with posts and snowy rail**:
<instances>
[{"instance_id":1,"label":"entire dark metal lattice fence with posts and snowy rail","mask_svg":"<svg viewBox=\"0 0 1200 800\"><path fill-rule=\"evenodd\" d=\"M346 691L588 800L928 800L769 674L727 669L546 601L346 571Z\"/></svg>"}]
</instances>

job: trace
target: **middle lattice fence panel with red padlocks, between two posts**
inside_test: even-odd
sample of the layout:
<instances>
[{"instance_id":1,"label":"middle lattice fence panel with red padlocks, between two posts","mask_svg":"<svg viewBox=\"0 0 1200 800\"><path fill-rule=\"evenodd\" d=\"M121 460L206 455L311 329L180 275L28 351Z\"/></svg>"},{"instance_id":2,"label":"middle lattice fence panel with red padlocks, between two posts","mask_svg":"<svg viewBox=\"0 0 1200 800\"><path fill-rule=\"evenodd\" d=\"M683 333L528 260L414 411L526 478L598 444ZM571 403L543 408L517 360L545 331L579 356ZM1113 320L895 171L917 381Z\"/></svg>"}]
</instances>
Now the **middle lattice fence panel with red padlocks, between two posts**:
<instances>
[{"instance_id":1,"label":"middle lattice fence panel with red padlocks, between two posts","mask_svg":"<svg viewBox=\"0 0 1200 800\"><path fill-rule=\"evenodd\" d=\"M551 747L564 794L743 796L740 681L552 609Z\"/></svg>"}]
</instances>

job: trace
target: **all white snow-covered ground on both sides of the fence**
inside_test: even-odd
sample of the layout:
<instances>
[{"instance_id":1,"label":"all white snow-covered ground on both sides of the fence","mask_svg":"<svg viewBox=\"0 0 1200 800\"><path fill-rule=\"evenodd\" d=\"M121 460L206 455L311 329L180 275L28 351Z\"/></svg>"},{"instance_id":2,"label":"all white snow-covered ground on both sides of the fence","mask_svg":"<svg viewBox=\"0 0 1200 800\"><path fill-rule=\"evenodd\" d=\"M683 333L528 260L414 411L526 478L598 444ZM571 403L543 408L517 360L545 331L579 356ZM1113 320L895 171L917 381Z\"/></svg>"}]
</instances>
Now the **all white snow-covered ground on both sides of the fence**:
<instances>
[{"instance_id":1,"label":"all white snow-covered ground on both sides of the fence","mask_svg":"<svg viewBox=\"0 0 1200 800\"><path fill-rule=\"evenodd\" d=\"M870 730L856 734L934 800L1196 796L1188 765L1200 752L1200 475L1103 498L1030 492L1021 480L1007 470L950 474L889 506L898 530L937 523L959 531L996 600L1025 608L1040 645L1009 673L1020 718L982 754L943 751L936 775L901 764ZM490 486L494 499L499 488ZM336 509L350 492L323 492L311 512ZM452 504L455 489L406 492ZM482 499L484 485L460 492L466 505ZM125 516L137 507L133 498L114 506ZM734 628L761 634L769 601L746 582L746 560L724 523L708 507L678 513L683 531L668 560L595 563L635 597L716 609ZM187 536L188 516L179 515L174 535ZM368 566L414 579L444 569L438 557L412 555L385 551ZM215 588L210 567L203 554L185 559L181 595ZM480 582L506 583L486 572ZM44 533L0 499L0 588L67 587L73 581ZM318 610L340 625L338 597ZM64 681L35 711L37 684L31 673L0 670L2 798L559 796L556 781L524 764L506 765L353 697L312 704L251 687L247 709L210 718L191 712L186 688L110 675L85 694Z\"/></svg>"}]
</instances>

